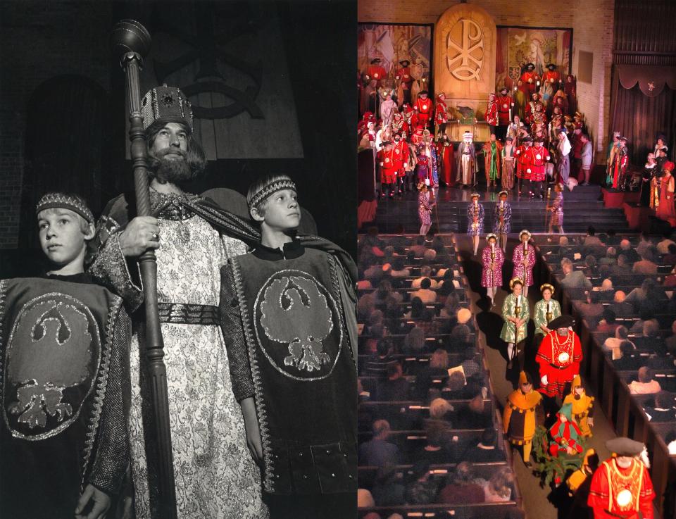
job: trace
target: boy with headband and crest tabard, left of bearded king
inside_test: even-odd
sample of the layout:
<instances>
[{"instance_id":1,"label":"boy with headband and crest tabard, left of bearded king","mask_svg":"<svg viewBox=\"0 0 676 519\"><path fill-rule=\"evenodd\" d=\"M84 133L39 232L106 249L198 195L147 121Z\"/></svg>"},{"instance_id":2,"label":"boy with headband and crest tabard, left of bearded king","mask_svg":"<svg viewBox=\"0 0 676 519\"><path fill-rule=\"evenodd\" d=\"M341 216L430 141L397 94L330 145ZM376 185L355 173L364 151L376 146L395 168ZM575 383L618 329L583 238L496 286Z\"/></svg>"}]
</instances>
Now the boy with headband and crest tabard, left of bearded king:
<instances>
[{"instance_id":1,"label":"boy with headband and crest tabard, left of bearded king","mask_svg":"<svg viewBox=\"0 0 676 519\"><path fill-rule=\"evenodd\" d=\"M87 204L49 193L36 214L45 277L0 280L0 508L101 519L129 461L130 320L84 273Z\"/></svg>"}]
</instances>

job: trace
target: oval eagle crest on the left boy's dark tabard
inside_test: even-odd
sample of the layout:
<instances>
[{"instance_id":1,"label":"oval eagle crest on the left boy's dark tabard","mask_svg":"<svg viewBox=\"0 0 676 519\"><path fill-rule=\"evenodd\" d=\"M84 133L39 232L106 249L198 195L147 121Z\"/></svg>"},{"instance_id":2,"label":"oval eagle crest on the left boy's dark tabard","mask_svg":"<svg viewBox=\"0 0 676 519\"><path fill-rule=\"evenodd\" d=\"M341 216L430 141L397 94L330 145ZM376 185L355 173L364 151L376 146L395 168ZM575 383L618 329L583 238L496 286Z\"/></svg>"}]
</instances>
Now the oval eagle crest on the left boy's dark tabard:
<instances>
[{"instance_id":1,"label":"oval eagle crest on the left boy's dark tabard","mask_svg":"<svg viewBox=\"0 0 676 519\"><path fill-rule=\"evenodd\" d=\"M3 414L14 437L44 439L80 415L101 356L89 308L66 294L44 294L20 310L6 347Z\"/></svg>"}]
</instances>

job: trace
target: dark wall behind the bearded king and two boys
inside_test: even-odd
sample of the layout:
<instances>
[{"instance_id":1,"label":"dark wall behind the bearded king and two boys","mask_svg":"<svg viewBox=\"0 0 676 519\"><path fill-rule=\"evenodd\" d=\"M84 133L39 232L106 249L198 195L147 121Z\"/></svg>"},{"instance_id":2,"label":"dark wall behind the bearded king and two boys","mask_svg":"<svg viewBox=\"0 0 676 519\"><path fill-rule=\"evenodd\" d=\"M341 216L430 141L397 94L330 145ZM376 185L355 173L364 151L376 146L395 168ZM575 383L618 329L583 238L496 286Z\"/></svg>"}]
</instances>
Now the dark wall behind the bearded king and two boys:
<instances>
[{"instance_id":1,"label":"dark wall behind the bearded king and two boys","mask_svg":"<svg viewBox=\"0 0 676 519\"><path fill-rule=\"evenodd\" d=\"M231 108L226 117L206 110L198 121L196 135L225 151L208 152L206 175L191 190L246 193L259 175L287 173L320 235L353 251L356 1L3 1L0 8L1 276L35 268L25 258L37 257L33 207L43 192L80 192L99 213L132 189L124 76L108 49L122 18L139 20L162 43L142 84L192 85L197 106ZM182 62L161 77L152 60L166 61L167 49ZM218 85L210 91L201 82Z\"/></svg>"}]
</instances>

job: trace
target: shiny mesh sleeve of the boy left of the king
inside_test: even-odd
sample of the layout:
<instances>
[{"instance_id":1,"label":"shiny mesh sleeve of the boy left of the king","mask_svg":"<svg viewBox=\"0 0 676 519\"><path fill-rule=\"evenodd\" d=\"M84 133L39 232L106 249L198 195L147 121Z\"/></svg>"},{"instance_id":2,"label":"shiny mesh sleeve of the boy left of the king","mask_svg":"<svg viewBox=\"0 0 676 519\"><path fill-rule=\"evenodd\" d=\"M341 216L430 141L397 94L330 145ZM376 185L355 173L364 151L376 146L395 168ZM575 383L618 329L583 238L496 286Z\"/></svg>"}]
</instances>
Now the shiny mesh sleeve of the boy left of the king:
<instances>
[{"instance_id":1,"label":"shiny mesh sleeve of the boy left of the king","mask_svg":"<svg viewBox=\"0 0 676 519\"><path fill-rule=\"evenodd\" d=\"M131 322L120 308L111 339L111 360L104 398L96 456L87 482L107 494L117 494L130 461L127 417L131 401L129 346Z\"/></svg>"}]
</instances>

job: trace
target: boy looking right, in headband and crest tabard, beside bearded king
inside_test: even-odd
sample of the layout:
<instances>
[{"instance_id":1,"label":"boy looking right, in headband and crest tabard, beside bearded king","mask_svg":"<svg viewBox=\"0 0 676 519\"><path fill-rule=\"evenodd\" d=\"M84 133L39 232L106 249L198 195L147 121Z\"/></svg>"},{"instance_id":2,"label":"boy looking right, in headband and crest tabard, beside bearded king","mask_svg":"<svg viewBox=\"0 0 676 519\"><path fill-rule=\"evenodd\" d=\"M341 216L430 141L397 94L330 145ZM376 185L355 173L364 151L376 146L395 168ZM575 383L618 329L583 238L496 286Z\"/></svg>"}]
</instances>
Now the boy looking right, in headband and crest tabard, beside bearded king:
<instances>
[{"instance_id":1,"label":"boy looking right, in headband and crest tabard, beside bearded king","mask_svg":"<svg viewBox=\"0 0 676 519\"><path fill-rule=\"evenodd\" d=\"M286 175L246 197L261 242L221 270L220 320L251 455L273 518L353 515L356 502L354 265L296 237Z\"/></svg>"}]
</instances>

